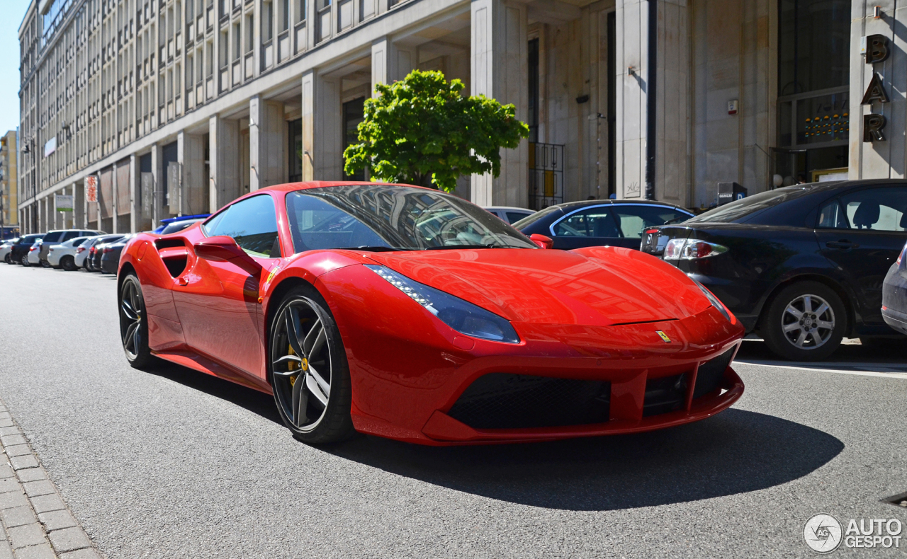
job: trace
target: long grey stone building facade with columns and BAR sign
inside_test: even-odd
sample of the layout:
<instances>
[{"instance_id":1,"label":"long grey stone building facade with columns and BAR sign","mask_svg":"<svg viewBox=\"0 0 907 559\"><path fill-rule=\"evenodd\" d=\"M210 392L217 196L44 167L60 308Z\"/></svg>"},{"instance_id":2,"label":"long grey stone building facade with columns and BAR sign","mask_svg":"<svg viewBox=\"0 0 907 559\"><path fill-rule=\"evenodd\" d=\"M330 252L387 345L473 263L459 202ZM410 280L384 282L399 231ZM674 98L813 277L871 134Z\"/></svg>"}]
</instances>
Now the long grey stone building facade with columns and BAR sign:
<instances>
[{"instance_id":1,"label":"long grey stone building facade with columns and BAR sign","mask_svg":"<svg viewBox=\"0 0 907 559\"><path fill-rule=\"evenodd\" d=\"M752 195L902 177L907 76L894 30L907 8L873 6L34 0L19 31L19 217L28 231L65 219L134 231L268 185L345 178L363 101L416 68L513 103L530 125L500 177L460 180L456 194L481 205L708 207L718 182ZM891 55L867 64L870 35ZM887 98L861 104L876 75ZM863 141L867 114L872 126L883 117L883 140ZM75 197L71 217L54 212L54 194Z\"/></svg>"}]
</instances>

